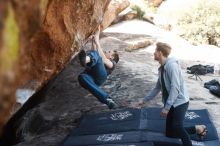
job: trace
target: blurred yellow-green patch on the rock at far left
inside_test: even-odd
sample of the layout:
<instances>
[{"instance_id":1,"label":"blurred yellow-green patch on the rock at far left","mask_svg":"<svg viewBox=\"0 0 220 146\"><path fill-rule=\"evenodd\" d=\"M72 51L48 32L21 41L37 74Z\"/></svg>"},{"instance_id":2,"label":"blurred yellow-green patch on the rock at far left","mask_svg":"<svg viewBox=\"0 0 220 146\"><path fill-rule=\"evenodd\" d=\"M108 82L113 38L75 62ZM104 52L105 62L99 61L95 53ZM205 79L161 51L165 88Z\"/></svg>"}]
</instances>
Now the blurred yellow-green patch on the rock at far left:
<instances>
[{"instance_id":1,"label":"blurred yellow-green patch on the rock at far left","mask_svg":"<svg viewBox=\"0 0 220 146\"><path fill-rule=\"evenodd\" d=\"M5 21L5 28L3 32L3 48L0 56L1 68L10 69L12 68L14 62L18 55L18 26L14 18L14 12L10 7L8 10L8 16Z\"/></svg>"}]
</instances>

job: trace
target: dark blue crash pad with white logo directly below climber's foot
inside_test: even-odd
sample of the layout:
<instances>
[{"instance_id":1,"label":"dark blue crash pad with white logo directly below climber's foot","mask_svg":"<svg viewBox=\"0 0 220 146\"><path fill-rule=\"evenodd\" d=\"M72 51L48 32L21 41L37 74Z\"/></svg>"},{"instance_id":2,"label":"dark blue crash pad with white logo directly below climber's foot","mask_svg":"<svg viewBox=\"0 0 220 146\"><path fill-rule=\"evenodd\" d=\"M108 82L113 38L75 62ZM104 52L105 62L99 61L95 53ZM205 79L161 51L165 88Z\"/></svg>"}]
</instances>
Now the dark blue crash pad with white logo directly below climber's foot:
<instances>
[{"instance_id":1,"label":"dark blue crash pad with white logo directly below climber's foot","mask_svg":"<svg viewBox=\"0 0 220 146\"><path fill-rule=\"evenodd\" d=\"M141 118L141 110L134 108L87 115L82 118L79 127L74 129L72 135L94 135L146 128L140 125L141 123L146 123Z\"/></svg>"}]
</instances>

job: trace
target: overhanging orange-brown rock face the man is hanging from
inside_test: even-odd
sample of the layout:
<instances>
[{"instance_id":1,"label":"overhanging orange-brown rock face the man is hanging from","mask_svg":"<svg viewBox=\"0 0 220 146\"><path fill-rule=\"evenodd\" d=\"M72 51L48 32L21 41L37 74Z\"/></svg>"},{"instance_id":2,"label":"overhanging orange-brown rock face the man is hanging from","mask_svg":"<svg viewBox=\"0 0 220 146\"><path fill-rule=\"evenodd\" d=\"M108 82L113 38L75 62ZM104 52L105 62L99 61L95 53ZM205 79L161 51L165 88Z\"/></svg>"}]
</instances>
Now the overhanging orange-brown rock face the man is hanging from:
<instances>
[{"instance_id":1,"label":"overhanging orange-brown rock face the man is hanging from","mask_svg":"<svg viewBox=\"0 0 220 146\"><path fill-rule=\"evenodd\" d=\"M14 126L18 124L16 121L43 101L45 97L42 96L42 91L48 87L48 81L54 79L77 55L101 23L102 29L112 23L114 17L102 22L104 15L109 16L107 13L112 13L107 11L108 6L112 7L109 5L110 1L11 0L9 5L6 3L7 0L0 2L0 56L3 54L2 50L10 49L5 47L7 45L2 41L4 26L8 25L4 21L9 17L6 15L8 12L13 13L13 17L10 18L16 20L15 27L18 28L18 33L14 36L19 38L15 46L16 57L11 65L5 70L0 63L0 131L10 117L16 89L31 88L36 91L36 94L9 120L0 142L6 138L6 143L14 143L13 134L17 134L17 127ZM126 5L122 5L125 0L112 1L118 4L111 8L114 9L115 17L129 4L126 1ZM11 56L9 54L6 57ZM4 58L0 57L0 62L3 61ZM8 133L12 137L7 137Z\"/></svg>"}]
</instances>

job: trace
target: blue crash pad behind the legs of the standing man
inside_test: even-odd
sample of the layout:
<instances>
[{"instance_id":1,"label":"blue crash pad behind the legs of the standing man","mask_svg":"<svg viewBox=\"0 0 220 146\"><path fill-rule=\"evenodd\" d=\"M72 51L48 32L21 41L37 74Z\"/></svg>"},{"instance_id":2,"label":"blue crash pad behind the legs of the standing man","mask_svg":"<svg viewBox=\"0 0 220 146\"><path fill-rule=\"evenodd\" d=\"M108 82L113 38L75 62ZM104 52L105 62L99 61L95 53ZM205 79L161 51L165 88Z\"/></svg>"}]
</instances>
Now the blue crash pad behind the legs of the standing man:
<instances>
[{"instance_id":1,"label":"blue crash pad behind the legs of the standing man","mask_svg":"<svg viewBox=\"0 0 220 146\"><path fill-rule=\"evenodd\" d=\"M142 113L147 115L147 122L144 121L142 125L145 124L145 130L152 132L165 133L165 118L160 117L161 108L143 108ZM217 140L217 131L210 119L210 115L206 109L202 110L188 110L184 120L184 126L193 126L196 124L205 124L208 128L208 134L204 140ZM200 141L196 134L190 135L192 140Z\"/></svg>"}]
</instances>

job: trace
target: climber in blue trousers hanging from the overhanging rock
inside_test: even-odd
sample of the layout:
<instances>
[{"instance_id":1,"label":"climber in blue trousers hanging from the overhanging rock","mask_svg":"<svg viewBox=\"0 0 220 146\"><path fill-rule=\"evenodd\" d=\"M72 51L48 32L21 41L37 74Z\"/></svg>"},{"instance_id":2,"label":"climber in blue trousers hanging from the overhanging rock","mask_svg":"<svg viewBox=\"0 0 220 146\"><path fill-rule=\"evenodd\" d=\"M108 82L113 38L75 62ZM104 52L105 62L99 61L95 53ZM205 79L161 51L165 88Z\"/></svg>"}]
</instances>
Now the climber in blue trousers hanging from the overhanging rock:
<instances>
[{"instance_id":1,"label":"climber in blue trousers hanging from the overhanging rock","mask_svg":"<svg viewBox=\"0 0 220 146\"><path fill-rule=\"evenodd\" d=\"M99 43L100 27L92 38L93 47L89 51L82 50L79 53L80 64L85 70L79 74L80 85L91 92L100 102L106 104L109 109L116 107L108 93L100 88L107 80L107 76L115 69L119 61L117 51L104 52Z\"/></svg>"}]
</instances>

